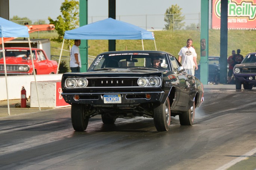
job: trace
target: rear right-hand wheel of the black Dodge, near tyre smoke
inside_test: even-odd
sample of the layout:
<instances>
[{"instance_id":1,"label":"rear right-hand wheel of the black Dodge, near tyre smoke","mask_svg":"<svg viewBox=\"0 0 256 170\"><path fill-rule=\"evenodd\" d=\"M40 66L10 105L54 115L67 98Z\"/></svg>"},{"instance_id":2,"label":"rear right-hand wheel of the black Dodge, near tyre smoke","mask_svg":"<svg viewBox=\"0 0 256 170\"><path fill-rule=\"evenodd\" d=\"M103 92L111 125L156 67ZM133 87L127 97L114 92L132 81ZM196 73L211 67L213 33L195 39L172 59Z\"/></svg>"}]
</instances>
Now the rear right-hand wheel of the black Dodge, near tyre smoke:
<instances>
[{"instance_id":1,"label":"rear right-hand wheel of the black Dodge, near tyre smoke","mask_svg":"<svg viewBox=\"0 0 256 170\"><path fill-rule=\"evenodd\" d=\"M183 111L182 114L179 115L179 123L181 125L193 125L195 118L195 101L193 106L188 111Z\"/></svg>"}]
</instances>

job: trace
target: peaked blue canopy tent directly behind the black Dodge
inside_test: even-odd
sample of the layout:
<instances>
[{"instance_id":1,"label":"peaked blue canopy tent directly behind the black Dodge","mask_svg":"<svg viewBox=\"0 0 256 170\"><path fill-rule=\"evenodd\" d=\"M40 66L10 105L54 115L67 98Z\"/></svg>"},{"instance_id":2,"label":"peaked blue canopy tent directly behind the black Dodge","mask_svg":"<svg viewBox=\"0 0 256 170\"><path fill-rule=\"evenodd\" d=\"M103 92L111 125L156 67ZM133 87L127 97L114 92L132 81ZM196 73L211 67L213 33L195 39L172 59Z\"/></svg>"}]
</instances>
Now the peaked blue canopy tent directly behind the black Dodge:
<instances>
[{"instance_id":1,"label":"peaked blue canopy tent directly behind the black Dodge","mask_svg":"<svg viewBox=\"0 0 256 170\"><path fill-rule=\"evenodd\" d=\"M81 26L69 31L65 31L64 40L61 48L64 45L65 39L78 40L141 40L142 49L144 50L143 40L154 40L154 32L146 31L138 26L127 22L118 21L112 18L107 18L98 22L93 22L88 25ZM155 45L155 50L157 47ZM61 55L59 57L59 63ZM59 66L58 66L59 70Z\"/></svg>"}]
</instances>

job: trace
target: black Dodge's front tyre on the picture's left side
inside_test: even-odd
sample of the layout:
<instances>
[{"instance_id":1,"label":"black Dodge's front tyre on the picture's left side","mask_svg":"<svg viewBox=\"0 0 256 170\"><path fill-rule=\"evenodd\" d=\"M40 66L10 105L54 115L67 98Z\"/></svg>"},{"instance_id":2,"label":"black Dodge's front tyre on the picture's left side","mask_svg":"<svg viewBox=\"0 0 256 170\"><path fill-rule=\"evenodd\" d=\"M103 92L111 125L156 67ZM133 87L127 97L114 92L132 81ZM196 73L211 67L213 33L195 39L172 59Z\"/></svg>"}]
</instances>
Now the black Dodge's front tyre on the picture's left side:
<instances>
[{"instance_id":1,"label":"black Dodge's front tyre on the picture's left side","mask_svg":"<svg viewBox=\"0 0 256 170\"><path fill-rule=\"evenodd\" d=\"M75 131L84 131L89 122L89 116L84 114L83 104L71 104L71 121Z\"/></svg>"}]
</instances>

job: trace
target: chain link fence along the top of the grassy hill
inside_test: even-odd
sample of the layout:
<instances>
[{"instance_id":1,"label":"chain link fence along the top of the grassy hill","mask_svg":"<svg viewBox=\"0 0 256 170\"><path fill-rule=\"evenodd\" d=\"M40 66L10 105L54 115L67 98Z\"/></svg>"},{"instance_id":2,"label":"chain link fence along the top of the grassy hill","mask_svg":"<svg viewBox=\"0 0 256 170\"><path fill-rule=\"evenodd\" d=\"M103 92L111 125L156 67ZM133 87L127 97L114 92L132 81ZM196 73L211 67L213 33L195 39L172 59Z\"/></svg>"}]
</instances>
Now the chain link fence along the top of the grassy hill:
<instances>
[{"instance_id":1,"label":"chain link fence along the top of the grassy hill","mask_svg":"<svg viewBox=\"0 0 256 170\"><path fill-rule=\"evenodd\" d=\"M108 18L108 16L88 16L88 24L101 21L106 18ZM165 22L165 18L170 18L170 23ZM200 29L200 13L167 15L117 15L116 19L119 21L131 23L146 30L164 30L166 29L167 24L172 25L172 27L169 27L169 29L172 31L177 29ZM24 25L24 23L28 25L49 24L48 19L16 20L12 22L18 23L20 25Z\"/></svg>"}]
</instances>

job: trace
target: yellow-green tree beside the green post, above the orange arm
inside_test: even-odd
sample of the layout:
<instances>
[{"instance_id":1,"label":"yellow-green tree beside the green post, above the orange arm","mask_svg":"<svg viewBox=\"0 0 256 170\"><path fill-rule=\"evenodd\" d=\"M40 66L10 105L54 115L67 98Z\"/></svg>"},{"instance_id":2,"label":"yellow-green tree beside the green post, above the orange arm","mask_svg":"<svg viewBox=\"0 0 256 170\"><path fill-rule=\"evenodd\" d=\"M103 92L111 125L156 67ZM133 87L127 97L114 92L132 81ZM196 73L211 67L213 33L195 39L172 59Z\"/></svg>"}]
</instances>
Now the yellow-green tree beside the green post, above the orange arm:
<instances>
[{"instance_id":1,"label":"yellow-green tree beside the green post, above the orange arm","mask_svg":"<svg viewBox=\"0 0 256 170\"><path fill-rule=\"evenodd\" d=\"M58 38L53 38L52 41L62 42L64 33L67 30L75 29L79 26L79 2L76 0L65 0L61 5L62 16L59 15L57 20L53 21L48 17L50 23L55 25L55 30L58 32ZM73 45L71 40L65 41L67 45Z\"/></svg>"}]
</instances>

